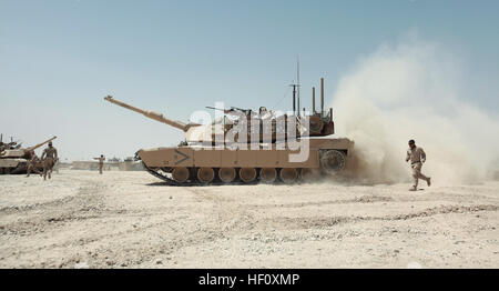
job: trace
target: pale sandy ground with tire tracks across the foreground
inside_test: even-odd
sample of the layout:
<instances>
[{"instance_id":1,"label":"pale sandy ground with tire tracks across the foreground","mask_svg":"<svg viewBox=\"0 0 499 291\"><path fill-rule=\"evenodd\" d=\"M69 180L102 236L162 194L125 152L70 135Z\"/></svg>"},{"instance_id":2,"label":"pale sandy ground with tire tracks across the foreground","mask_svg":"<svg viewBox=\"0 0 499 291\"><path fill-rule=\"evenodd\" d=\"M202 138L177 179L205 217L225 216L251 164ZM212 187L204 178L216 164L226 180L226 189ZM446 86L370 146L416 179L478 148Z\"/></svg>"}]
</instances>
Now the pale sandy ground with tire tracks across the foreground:
<instances>
[{"instance_id":1,"label":"pale sandy ground with tire tracks across the foreground","mask_svg":"<svg viewBox=\"0 0 499 291\"><path fill-rule=\"evenodd\" d=\"M499 268L499 182L157 182L0 175L0 268Z\"/></svg>"}]
</instances>

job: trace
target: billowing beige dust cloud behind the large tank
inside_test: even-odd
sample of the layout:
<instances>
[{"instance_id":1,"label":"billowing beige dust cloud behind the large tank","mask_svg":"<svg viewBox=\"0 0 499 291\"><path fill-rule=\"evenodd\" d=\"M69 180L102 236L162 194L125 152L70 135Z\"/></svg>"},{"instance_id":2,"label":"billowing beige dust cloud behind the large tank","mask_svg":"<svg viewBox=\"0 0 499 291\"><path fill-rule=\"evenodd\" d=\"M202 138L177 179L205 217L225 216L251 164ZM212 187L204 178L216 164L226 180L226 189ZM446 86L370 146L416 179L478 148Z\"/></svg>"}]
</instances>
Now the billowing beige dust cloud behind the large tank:
<instances>
[{"instance_id":1,"label":"billowing beige dust cloud behind the large tank","mask_svg":"<svg viewBox=\"0 0 499 291\"><path fill-rule=\"evenodd\" d=\"M381 46L344 76L334 94L337 133L355 141L349 175L360 183L410 180L407 141L436 184L487 179L499 155L499 121L461 96L461 63L438 43L408 37Z\"/></svg>"}]
</instances>

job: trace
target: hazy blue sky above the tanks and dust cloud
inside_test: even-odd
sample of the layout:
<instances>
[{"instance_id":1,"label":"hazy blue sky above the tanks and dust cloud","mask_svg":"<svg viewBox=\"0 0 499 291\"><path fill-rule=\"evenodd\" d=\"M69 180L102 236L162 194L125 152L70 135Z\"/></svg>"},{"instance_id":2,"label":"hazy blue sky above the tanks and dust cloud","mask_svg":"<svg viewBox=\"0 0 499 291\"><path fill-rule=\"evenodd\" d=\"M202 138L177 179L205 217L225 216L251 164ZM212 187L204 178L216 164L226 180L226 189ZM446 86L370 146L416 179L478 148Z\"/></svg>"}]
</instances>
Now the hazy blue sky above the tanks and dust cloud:
<instances>
[{"instance_id":1,"label":"hazy blue sky above the tanks and dust cloud","mask_svg":"<svg viewBox=\"0 0 499 291\"><path fill-rule=\"evenodd\" d=\"M175 119L223 101L288 110L326 78L326 97L356 60L416 30L464 67L469 101L499 106L499 1L0 0L0 132L61 155L126 157L182 133L105 103ZM281 102L279 102L281 101Z\"/></svg>"}]
</instances>

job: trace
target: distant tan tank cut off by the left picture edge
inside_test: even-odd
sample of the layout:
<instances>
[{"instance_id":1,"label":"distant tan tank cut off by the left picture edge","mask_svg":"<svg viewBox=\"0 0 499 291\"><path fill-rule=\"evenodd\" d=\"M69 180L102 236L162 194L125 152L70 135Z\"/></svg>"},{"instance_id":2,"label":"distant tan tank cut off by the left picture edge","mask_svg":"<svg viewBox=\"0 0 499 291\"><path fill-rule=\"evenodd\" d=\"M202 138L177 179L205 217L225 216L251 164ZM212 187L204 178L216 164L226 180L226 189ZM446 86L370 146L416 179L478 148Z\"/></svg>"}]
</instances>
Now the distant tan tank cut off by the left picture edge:
<instances>
[{"instance_id":1,"label":"distant tan tank cut off by the left picture edge","mask_svg":"<svg viewBox=\"0 0 499 291\"><path fill-rule=\"evenodd\" d=\"M27 173L28 170L28 161L32 158L32 153L34 150L43 147L45 143L57 139L53 137L48 139L41 143L38 143L33 147L29 147L23 149L20 144L17 147L3 147L3 150L0 152L0 174L23 174ZM35 165L39 170L42 170L43 167L41 163Z\"/></svg>"}]
</instances>

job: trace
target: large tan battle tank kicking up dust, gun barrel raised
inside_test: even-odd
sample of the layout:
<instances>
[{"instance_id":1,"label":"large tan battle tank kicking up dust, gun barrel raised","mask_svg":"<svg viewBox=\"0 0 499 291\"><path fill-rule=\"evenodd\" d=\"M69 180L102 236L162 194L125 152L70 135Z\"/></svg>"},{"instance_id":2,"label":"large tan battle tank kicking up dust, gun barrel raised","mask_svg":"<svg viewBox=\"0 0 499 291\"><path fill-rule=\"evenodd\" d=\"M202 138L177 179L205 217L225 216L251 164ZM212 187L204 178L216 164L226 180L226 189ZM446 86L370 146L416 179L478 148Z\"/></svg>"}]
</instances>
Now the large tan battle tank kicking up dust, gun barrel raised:
<instances>
[{"instance_id":1,"label":"large tan battle tank kicking up dust, gun barrel raised","mask_svg":"<svg viewBox=\"0 0 499 291\"><path fill-rule=\"evenodd\" d=\"M324 110L324 79L320 79L320 111L315 110L315 89L312 113L296 110L296 86L294 89L291 114L278 116L265 108L258 113L233 108L223 110L224 117L211 124L171 120L111 96L104 100L185 132L179 147L142 149L135 153L146 171L171 185L258 180L294 183L340 172L354 142L326 138L334 133L334 122L333 109Z\"/></svg>"}]
</instances>

